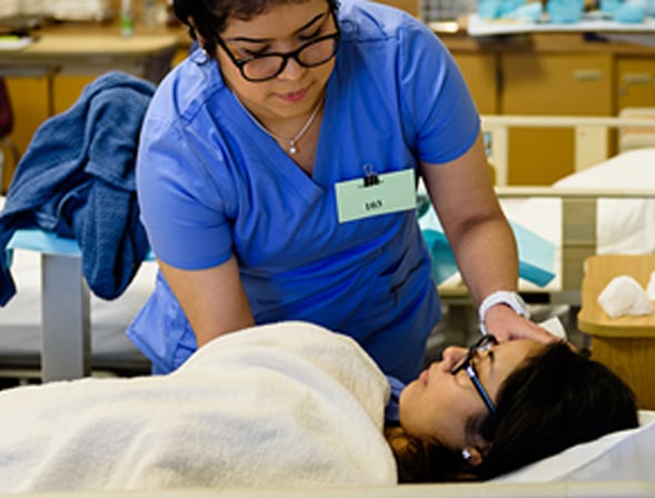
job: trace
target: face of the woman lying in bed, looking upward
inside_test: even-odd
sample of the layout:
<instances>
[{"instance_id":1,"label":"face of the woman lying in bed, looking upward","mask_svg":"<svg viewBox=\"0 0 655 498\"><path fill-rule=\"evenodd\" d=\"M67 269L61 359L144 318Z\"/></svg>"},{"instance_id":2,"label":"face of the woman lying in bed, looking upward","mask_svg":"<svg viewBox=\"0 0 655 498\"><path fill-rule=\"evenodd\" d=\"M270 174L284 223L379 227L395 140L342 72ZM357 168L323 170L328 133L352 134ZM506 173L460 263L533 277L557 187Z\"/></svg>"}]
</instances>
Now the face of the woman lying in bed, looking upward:
<instances>
[{"instance_id":1,"label":"face of the woman lying in bed, looking upward","mask_svg":"<svg viewBox=\"0 0 655 498\"><path fill-rule=\"evenodd\" d=\"M543 347L532 340L513 340L472 357L470 365L492 404L505 379ZM451 374L467 353L466 348L447 348L443 361L431 363L403 390L400 425L407 434L451 450L480 446L475 421L484 420L489 407L466 369Z\"/></svg>"}]
</instances>

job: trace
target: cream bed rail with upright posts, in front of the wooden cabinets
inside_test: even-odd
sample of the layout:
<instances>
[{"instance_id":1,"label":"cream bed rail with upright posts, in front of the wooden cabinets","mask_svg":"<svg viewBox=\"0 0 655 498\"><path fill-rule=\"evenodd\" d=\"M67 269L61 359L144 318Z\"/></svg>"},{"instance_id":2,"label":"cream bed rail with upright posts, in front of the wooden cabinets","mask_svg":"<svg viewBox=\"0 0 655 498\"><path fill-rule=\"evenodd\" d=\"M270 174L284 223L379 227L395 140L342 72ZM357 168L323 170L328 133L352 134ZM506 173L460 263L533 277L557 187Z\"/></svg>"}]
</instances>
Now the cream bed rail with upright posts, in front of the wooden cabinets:
<instances>
[{"instance_id":1,"label":"cream bed rail with upright posts, in front of the wooden cabinets","mask_svg":"<svg viewBox=\"0 0 655 498\"><path fill-rule=\"evenodd\" d=\"M575 171L597 165L608 158L611 129L653 130L655 119L583 116L483 116L483 130L487 133L489 162L496 170L496 185L507 185L509 129L512 128L570 128L575 131Z\"/></svg>"}]
</instances>

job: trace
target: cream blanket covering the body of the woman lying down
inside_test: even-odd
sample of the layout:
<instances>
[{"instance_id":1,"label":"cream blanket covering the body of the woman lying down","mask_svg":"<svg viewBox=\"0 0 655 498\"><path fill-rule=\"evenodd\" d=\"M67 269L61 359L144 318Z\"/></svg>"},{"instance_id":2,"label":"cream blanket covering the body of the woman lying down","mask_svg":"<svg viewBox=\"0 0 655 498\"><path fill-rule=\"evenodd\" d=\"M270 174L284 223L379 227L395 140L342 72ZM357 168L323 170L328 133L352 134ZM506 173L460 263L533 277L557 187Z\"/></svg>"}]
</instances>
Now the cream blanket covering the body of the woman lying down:
<instances>
[{"instance_id":1,"label":"cream blanket covering the body of the woman lying down","mask_svg":"<svg viewBox=\"0 0 655 498\"><path fill-rule=\"evenodd\" d=\"M0 491L393 485L388 396L351 339L255 327L166 377L0 391Z\"/></svg>"}]
</instances>

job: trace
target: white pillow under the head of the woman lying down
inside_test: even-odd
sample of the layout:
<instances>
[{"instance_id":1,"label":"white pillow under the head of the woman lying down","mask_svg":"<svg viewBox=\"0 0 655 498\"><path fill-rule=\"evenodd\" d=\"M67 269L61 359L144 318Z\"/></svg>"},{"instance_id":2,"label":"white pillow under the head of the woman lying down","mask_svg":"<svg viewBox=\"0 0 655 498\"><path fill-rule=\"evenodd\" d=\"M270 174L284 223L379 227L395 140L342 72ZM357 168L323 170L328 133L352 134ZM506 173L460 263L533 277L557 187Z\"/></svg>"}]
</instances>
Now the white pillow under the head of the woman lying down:
<instances>
[{"instance_id":1,"label":"white pillow under the head of the woman lying down","mask_svg":"<svg viewBox=\"0 0 655 498\"><path fill-rule=\"evenodd\" d=\"M608 434L498 477L498 482L641 480L655 482L655 411L639 411L639 427Z\"/></svg>"}]
</instances>

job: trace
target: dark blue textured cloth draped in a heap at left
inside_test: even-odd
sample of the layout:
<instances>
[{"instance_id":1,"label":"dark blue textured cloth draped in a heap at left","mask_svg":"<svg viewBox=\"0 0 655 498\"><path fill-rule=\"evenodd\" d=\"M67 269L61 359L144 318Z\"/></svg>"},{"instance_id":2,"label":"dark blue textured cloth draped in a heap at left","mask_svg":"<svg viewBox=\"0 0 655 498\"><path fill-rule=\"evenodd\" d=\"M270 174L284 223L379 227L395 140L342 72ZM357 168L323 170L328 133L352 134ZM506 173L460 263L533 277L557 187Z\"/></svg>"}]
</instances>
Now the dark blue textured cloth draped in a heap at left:
<instances>
[{"instance_id":1,"label":"dark blue textured cloth draped in a heap at left","mask_svg":"<svg viewBox=\"0 0 655 498\"><path fill-rule=\"evenodd\" d=\"M97 296L113 299L127 288L149 250L135 162L153 92L153 83L111 71L39 127L0 215L0 306L16 293L6 248L19 228L77 240L82 272Z\"/></svg>"}]
</instances>

